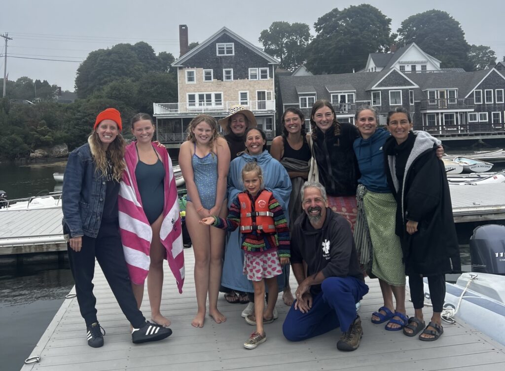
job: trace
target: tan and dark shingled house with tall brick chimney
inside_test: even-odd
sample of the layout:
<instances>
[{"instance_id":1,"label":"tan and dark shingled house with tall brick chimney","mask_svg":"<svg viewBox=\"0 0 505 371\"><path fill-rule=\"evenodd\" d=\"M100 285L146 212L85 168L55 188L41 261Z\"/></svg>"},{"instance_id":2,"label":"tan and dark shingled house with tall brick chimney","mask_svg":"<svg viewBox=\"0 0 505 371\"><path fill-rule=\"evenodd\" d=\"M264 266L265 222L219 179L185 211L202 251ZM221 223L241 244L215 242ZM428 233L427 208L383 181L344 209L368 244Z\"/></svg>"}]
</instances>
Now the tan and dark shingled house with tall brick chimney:
<instances>
[{"instance_id":1,"label":"tan and dark shingled house with tall brick chimney","mask_svg":"<svg viewBox=\"0 0 505 371\"><path fill-rule=\"evenodd\" d=\"M180 143L191 119L207 113L216 119L230 107L251 110L268 138L275 136L274 71L279 62L226 27L188 51L187 26L179 26L178 102L154 103L158 138Z\"/></svg>"}]
</instances>

